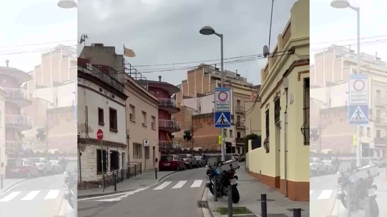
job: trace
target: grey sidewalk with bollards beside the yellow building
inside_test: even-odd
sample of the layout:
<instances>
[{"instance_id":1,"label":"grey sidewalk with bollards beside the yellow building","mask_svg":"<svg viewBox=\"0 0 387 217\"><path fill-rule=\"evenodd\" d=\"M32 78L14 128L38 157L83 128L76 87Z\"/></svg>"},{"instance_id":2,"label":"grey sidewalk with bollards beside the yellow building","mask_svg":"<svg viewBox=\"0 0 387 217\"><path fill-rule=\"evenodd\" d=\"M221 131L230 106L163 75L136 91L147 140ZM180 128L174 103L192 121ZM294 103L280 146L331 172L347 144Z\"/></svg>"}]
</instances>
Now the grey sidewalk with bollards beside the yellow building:
<instances>
[{"instance_id":1,"label":"grey sidewalk with bollards beside the yellow building","mask_svg":"<svg viewBox=\"0 0 387 217\"><path fill-rule=\"evenodd\" d=\"M261 193L265 193L267 197L267 214L285 214L283 217L292 217L293 208L301 208L301 216L309 216L309 202L295 202L289 198L284 197L281 193L269 188L263 183L255 180L248 175L244 170L244 164L240 165L240 169L236 170L238 175L238 190L240 194L240 201L233 203L233 207L247 207L257 217L261 216ZM209 210L213 217L221 217L227 215L220 215L216 212L217 207L227 207L227 197L218 198L214 202L214 196L210 191L207 193L207 201ZM289 209L289 210L287 210ZM303 211L304 210L304 211ZM282 217L281 215L277 215Z\"/></svg>"}]
</instances>

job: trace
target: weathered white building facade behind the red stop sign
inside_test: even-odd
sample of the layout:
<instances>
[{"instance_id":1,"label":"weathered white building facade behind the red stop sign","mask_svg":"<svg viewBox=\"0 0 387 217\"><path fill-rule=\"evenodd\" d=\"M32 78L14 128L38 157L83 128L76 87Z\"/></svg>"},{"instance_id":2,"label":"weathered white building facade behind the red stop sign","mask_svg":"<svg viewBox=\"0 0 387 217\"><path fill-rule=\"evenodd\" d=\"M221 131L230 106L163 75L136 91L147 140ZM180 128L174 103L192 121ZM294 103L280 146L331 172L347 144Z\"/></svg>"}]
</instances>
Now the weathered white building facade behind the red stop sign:
<instances>
[{"instance_id":1,"label":"weathered white building facade behind the red stop sign","mask_svg":"<svg viewBox=\"0 0 387 217\"><path fill-rule=\"evenodd\" d=\"M83 182L99 181L102 172L118 170L128 162L124 85L100 66L87 62L79 58L77 63L78 148L81 152L78 171L82 172ZM104 133L102 142L97 139L98 129Z\"/></svg>"}]
</instances>

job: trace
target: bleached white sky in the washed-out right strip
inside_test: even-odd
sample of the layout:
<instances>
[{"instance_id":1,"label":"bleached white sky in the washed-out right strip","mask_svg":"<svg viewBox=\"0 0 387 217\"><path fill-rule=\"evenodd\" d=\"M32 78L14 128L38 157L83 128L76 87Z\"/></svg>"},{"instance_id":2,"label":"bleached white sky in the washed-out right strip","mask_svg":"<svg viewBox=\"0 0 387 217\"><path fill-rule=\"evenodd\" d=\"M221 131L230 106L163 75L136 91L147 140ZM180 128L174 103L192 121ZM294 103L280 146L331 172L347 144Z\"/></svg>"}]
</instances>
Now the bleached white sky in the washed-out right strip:
<instances>
[{"instance_id":1,"label":"bleached white sky in the washed-out right strip","mask_svg":"<svg viewBox=\"0 0 387 217\"><path fill-rule=\"evenodd\" d=\"M351 46L356 52L356 11L336 9L330 6L331 0L310 0L310 55L322 51L332 43ZM360 51L378 53L387 61L387 29L385 28L384 0L349 0L354 7L360 7ZM313 61L313 58L311 58Z\"/></svg>"}]
</instances>

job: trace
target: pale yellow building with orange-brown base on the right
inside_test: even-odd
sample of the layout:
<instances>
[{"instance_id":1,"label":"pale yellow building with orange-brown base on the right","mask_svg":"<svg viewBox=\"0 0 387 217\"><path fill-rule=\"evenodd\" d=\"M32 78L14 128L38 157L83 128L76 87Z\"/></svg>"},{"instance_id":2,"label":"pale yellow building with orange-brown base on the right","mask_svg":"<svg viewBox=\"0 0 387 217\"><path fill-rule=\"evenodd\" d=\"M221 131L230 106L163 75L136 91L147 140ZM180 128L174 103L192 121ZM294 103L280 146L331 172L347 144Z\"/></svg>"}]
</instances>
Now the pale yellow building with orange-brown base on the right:
<instances>
[{"instance_id":1,"label":"pale yellow building with orange-brown base on the right","mask_svg":"<svg viewBox=\"0 0 387 217\"><path fill-rule=\"evenodd\" d=\"M261 70L262 145L249 173L292 200L309 200L309 1L298 0ZM277 56L293 48L294 53ZM250 145L251 148L251 145Z\"/></svg>"}]
</instances>

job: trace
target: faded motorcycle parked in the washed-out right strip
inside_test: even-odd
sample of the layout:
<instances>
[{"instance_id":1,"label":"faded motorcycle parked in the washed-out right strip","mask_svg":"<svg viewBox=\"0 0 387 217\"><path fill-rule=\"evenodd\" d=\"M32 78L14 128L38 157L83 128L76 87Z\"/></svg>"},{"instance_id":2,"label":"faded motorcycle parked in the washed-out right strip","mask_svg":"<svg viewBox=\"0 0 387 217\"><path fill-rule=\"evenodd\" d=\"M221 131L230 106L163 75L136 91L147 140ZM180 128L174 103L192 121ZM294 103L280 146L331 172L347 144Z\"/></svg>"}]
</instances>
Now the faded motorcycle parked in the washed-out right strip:
<instances>
[{"instance_id":1,"label":"faded motorcycle parked in the washed-out right strip","mask_svg":"<svg viewBox=\"0 0 387 217\"><path fill-rule=\"evenodd\" d=\"M358 210L364 210L365 197L370 198L370 217L379 216L379 207L376 202L376 190L377 185L373 185L373 178L354 180L352 175L358 170L353 170L348 174L340 173L341 177L338 179L340 185L337 197L341 200L342 205L349 212L357 212ZM351 207L348 209L348 190L350 191Z\"/></svg>"}]
</instances>

